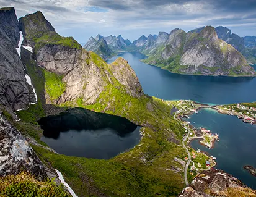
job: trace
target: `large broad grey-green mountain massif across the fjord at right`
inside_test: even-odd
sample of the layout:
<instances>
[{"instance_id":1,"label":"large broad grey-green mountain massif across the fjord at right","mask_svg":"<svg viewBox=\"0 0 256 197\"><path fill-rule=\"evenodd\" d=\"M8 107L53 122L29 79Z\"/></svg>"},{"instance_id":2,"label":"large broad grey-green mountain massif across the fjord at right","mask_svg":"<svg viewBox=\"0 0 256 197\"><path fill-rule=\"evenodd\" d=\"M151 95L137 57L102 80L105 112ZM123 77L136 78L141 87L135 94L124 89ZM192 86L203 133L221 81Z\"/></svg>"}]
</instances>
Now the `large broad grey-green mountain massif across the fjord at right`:
<instances>
[{"instance_id":1,"label":"large broad grey-green mountain massif across the fjord at right","mask_svg":"<svg viewBox=\"0 0 256 197\"><path fill-rule=\"evenodd\" d=\"M231 45L218 38L214 27L200 33L172 30L169 38L144 60L174 73L190 75L255 75L247 61Z\"/></svg>"}]
</instances>

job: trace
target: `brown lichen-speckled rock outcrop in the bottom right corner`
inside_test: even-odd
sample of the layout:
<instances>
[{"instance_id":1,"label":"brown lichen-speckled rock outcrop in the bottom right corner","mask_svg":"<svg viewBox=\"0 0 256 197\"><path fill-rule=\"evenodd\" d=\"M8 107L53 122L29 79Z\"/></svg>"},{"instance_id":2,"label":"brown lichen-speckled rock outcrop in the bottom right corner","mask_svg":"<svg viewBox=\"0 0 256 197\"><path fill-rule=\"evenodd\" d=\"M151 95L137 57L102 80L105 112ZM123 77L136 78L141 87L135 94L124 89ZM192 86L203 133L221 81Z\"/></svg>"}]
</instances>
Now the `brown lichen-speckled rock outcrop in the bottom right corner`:
<instances>
[{"instance_id":1,"label":"brown lichen-speckled rock outcrop in the bottom right corner","mask_svg":"<svg viewBox=\"0 0 256 197\"><path fill-rule=\"evenodd\" d=\"M256 191L222 170L206 170L196 176L191 185L184 188L179 195L179 197L192 196L256 196Z\"/></svg>"}]
</instances>

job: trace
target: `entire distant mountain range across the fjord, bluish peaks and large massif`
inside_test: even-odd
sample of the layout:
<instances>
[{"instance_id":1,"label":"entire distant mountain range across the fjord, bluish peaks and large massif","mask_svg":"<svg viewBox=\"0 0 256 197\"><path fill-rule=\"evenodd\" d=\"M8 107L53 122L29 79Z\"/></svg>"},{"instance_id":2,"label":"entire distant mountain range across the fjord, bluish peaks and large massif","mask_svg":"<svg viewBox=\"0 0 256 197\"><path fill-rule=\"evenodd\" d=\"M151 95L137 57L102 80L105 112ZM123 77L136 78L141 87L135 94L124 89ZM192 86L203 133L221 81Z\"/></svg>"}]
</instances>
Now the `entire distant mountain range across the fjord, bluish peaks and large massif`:
<instances>
[{"instance_id":1,"label":"entire distant mountain range across the fjord, bluish peaks and large massif","mask_svg":"<svg viewBox=\"0 0 256 197\"><path fill-rule=\"evenodd\" d=\"M84 48L96 52L104 59L121 51L141 52L148 56L144 62L174 73L250 76L255 75L249 65L256 62L255 38L239 37L227 27L207 26L187 33L176 28L170 34L159 32L159 35L148 37L142 35L133 43L128 40L126 43L121 35L97 35L95 40L90 38ZM107 45L99 44L100 39L104 39ZM109 52L110 49L113 52Z\"/></svg>"}]
</instances>

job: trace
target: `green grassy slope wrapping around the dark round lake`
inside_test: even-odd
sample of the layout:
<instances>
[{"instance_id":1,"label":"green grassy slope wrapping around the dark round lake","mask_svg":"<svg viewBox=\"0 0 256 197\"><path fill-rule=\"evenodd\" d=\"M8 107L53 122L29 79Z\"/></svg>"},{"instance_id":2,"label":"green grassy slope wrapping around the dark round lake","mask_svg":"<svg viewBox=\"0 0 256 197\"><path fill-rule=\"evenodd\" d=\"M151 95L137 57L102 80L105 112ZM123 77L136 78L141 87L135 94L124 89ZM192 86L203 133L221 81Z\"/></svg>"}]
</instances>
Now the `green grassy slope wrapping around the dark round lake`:
<instances>
[{"instance_id":1,"label":"green grassy slope wrapping around the dark round lake","mask_svg":"<svg viewBox=\"0 0 256 197\"><path fill-rule=\"evenodd\" d=\"M96 54L91 54L90 61L95 62L101 72L110 71L108 65ZM32 136L43 144L40 141L42 130L36 120L45 115L42 95L47 78L44 75L45 70L35 62L26 62L26 67L37 91L38 103L30 105L26 111L19 111L18 115L23 121L16 124L25 124L24 135ZM63 156L37 146L33 146L33 149L42 161L47 161L47 164L63 173L66 182L79 196L98 196L100 192L109 196L126 196L129 193L132 196L152 196L156 193L176 196L184 187L182 172L175 173L171 169L182 169L182 166L174 161L174 157L183 158L185 155L183 148L172 141L179 142L183 128L170 115L171 107L164 101L146 95L132 98L113 76L111 79L113 83L105 87L95 104L85 106L82 99L77 99L63 106L81 106L98 112L104 111L145 125L140 146L110 160ZM104 80L107 80L107 77ZM29 130L31 132L26 133Z\"/></svg>"}]
</instances>

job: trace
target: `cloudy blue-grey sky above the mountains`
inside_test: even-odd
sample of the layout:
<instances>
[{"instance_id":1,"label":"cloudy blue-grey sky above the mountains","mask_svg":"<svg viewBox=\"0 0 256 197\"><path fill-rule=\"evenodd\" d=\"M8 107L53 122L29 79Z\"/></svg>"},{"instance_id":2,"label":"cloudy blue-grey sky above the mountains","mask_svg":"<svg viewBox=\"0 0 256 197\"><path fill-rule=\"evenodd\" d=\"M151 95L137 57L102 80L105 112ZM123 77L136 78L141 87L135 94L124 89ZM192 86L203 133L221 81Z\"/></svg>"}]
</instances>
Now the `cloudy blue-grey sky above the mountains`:
<instances>
[{"instance_id":1,"label":"cloudy blue-grey sky above the mountains","mask_svg":"<svg viewBox=\"0 0 256 197\"><path fill-rule=\"evenodd\" d=\"M40 10L62 36L86 43L90 36L141 35L223 25L240 36L256 35L256 0L0 0L17 17Z\"/></svg>"}]
</instances>

